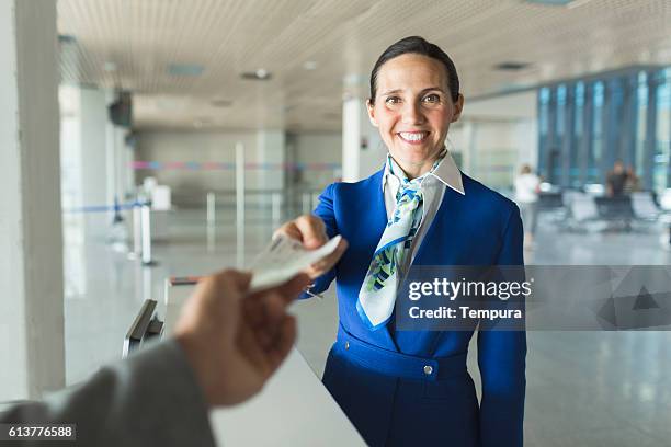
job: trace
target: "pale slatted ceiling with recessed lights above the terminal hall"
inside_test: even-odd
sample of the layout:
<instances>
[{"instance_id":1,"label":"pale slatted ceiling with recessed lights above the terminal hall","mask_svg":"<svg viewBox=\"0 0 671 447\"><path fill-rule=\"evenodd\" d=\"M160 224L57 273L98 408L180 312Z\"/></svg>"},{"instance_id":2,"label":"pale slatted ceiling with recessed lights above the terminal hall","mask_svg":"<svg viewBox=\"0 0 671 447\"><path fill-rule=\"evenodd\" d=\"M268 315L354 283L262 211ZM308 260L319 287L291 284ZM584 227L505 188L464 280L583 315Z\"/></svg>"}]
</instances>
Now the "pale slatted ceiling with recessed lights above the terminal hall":
<instances>
[{"instance_id":1,"label":"pale slatted ceiling with recessed lights above the terminal hall","mask_svg":"<svg viewBox=\"0 0 671 447\"><path fill-rule=\"evenodd\" d=\"M138 127L340 129L345 89L365 94L377 56L413 34L452 56L467 99L671 64L668 0L59 0L58 22L75 37L64 80L132 90ZM503 61L531 66L493 69ZM272 79L240 79L259 68Z\"/></svg>"}]
</instances>

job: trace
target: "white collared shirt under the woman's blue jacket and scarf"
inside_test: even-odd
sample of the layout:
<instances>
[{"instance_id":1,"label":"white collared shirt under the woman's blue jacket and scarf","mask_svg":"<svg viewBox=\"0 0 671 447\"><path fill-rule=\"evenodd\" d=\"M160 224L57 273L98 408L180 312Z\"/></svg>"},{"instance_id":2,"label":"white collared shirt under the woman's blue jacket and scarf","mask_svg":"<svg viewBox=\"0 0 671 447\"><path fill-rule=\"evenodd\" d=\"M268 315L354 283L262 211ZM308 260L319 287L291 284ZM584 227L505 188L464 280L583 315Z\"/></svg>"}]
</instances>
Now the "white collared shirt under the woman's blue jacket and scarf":
<instances>
[{"instance_id":1,"label":"white collared shirt under the woman's blue jacket and scarf","mask_svg":"<svg viewBox=\"0 0 671 447\"><path fill-rule=\"evenodd\" d=\"M389 219L394 214L394 208L396 207L396 193L400 186L400 180L394 175L389 168L389 163L385 163L385 172L382 180L387 219ZM417 236L414 237L412 245L410 247L410 256L407 257L405 263L406 265L401 267L401 270L406 272L409 263L414 261L414 255L417 254L417 251L421 245L429 227L431 227L431 222L433 222L433 219L435 218L445 195L445 187L451 187L462 195L466 194L464 191L464 184L462 182L462 172L456 167L450 151L445 153L445 157L435 171L428 174L422 180L421 185L423 193L422 219L420 220Z\"/></svg>"}]
</instances>

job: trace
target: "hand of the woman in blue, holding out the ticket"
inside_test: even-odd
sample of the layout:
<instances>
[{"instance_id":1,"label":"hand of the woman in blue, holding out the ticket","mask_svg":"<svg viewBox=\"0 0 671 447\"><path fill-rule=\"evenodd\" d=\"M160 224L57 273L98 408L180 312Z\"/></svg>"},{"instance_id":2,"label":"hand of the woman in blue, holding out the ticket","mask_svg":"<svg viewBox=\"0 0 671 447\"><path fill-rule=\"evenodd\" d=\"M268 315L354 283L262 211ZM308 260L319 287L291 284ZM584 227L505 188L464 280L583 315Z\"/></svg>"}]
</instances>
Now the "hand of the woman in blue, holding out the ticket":
<instances>
[{"instance_id":1,"label":"hand of the woman in blue, holding out the ticket","mask_svg":"<svg viewBox=\"0 0 671 447\"><path fill-rule=\"evenodd\" d=\"M294 238L303 242L303 247L308 250L315 250L327 243L329 240L326 233L326 226L323 221L314 215L303 215L292 221L284 224L280 227L275 234L285 234L289 238ZM338 247L333 251L333 253L328 256L317 261L312 265L305 271L307 275L315 279L328 271L330 271L333 265L340 260L342 254L348 249L348 241L343 239L340 240Z\"/></svg>"}]
</instances>

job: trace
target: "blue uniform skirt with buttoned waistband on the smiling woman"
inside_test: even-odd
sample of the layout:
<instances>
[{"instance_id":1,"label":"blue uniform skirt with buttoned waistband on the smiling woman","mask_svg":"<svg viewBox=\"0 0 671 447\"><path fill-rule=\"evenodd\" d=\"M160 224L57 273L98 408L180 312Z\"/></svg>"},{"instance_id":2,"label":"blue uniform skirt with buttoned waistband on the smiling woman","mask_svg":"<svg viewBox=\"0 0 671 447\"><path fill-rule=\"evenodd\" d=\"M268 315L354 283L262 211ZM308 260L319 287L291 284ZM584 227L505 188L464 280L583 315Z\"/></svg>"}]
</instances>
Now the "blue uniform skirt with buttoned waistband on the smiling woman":
<instances>
[{"instance_id":1,"label":"blue uniform skirt with buttoned waistband on the smiling woman","mask_svg":"<svg viewBox=\"0 0 671 447\"><path fill-rule=\"evenodd\" d=\"M479 445L478 401L466 353L422 358L339 329L323 385L373 446Z\"/></svg>"}]
</instances>

